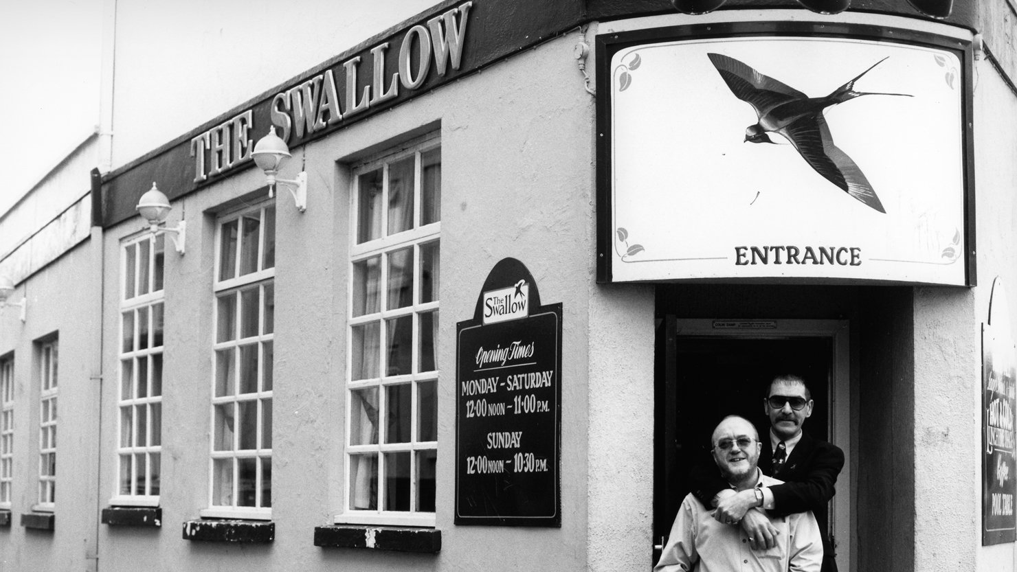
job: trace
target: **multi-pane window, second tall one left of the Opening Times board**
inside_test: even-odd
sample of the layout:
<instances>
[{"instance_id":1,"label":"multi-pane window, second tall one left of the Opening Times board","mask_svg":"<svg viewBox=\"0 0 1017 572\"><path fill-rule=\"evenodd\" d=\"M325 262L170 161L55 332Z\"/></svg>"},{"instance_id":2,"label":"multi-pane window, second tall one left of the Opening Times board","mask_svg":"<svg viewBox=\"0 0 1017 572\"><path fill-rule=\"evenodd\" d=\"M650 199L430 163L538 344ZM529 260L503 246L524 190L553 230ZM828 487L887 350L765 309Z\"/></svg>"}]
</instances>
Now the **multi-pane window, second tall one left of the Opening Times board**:
<instances>
[{"instance_id":1,"label":"multi-pane window, second tall one left of the Opening Times board","mask_svg":"<svg viewBox=\"0 0 1017 572\"><path fill-rule=\"evenodd\" d=\"M219 219L212 382L212 508L270 518L276 207Z\"/></svg>"}]
</instances>

